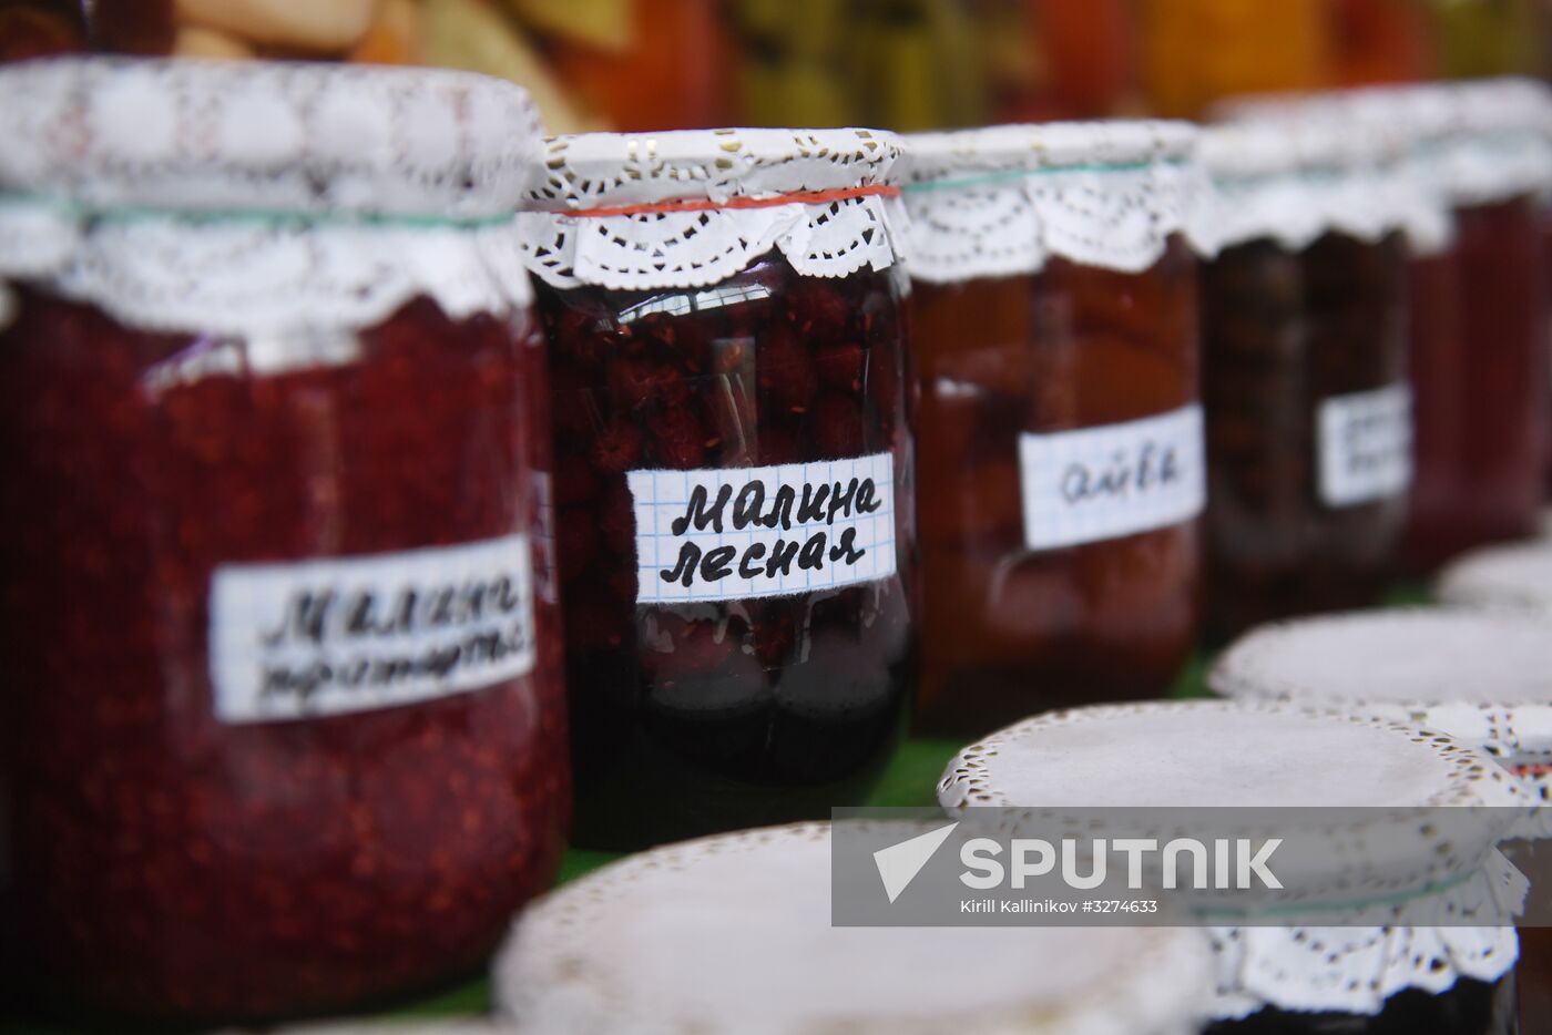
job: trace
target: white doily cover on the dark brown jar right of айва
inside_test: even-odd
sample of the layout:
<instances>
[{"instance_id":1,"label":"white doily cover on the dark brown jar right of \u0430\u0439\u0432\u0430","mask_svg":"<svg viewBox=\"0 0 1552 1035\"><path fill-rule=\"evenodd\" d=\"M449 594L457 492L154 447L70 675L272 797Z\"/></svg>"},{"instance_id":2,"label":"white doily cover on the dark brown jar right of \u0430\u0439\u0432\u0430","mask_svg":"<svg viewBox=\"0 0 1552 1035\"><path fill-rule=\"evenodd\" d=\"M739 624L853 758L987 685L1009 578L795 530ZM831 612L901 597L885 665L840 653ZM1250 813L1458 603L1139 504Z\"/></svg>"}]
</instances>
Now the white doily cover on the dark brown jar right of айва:
<instances>
[{"instance_id":1,"label":"white doily cover on the dark brown jar right of \u0430\u0439\u0432\u0430","mask_svg":"<svg viewBox=\"0 0 1552 1035\"><path fill-rule=\"evenodd\" d=\"M1299 251L1325 233L1372 242L1405 231L1414 250L1431 253L1453 234L1450 209L1384 137L1342 119L1211 126L1198 155L1215 188L1198 237L1221 248L1271 239Z\"/></svg>"}]
</instances>

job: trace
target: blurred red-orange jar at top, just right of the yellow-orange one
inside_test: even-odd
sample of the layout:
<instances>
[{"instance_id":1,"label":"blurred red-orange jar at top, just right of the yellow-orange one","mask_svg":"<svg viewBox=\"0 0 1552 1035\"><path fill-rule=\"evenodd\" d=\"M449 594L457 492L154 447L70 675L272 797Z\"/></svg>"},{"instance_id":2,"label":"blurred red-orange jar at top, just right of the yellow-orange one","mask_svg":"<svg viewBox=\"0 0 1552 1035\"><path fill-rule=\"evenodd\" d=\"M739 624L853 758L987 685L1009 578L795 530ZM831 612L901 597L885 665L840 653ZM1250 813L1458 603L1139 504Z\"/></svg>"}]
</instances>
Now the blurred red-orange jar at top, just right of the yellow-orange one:
<instances>
[{"instance_id":1,"label":"blurred red-orange jar at top, just right of the yellow-orange one","mask_svg":"<svg viewBox=\"0 0 1552 1035\"><path fill-rule=\"evenodd\" d=\"M1332 0L1333 85L1414 82L1434 74L1432 22L1417 0Z\"/></svg>"}]
</instances>

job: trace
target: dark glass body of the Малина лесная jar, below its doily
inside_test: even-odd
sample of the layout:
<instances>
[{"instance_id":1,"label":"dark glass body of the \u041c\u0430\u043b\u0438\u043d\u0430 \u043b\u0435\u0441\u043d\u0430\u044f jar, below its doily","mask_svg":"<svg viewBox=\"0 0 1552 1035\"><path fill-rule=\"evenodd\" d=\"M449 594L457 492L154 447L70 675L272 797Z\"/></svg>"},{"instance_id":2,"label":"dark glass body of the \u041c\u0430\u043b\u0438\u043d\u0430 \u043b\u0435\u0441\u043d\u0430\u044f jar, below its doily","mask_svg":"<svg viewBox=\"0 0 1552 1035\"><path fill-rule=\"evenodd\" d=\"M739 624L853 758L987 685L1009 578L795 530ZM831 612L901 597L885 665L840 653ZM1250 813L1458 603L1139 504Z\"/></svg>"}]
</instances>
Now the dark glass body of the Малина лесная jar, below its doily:
<instances>
[{"instance_id":1,"label":"dark glass body of the \u041c\u0430\u043b\u0438\u043d\u0430 \u043b\u0435\u0441\u043d\u0430\u044f jar, below its doily","mask_svg":"<svg viewBox=\"0 0 1552 1035\"><path fill-rule=\"evenodd\" d=\"M826 815L888 760L916 683L902 289L776 254L694 290L539 286L579 844ZM708 490L641 528L677 472Z\"/></svg>"}]
</instances>

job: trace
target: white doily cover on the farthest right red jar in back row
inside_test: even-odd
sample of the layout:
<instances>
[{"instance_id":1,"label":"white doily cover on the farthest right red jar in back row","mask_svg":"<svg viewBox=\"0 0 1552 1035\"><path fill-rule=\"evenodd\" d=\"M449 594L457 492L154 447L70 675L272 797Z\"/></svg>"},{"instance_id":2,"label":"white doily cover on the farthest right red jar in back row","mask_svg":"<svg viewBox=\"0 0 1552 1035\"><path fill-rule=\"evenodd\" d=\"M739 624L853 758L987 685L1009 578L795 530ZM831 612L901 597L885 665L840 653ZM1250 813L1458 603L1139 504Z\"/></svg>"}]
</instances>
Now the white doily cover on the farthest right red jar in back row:
<instances>
[{"instance_id":1,"label":"white doily cover on the farthest right red jar in back row","mask_svg":"<svg viewBox=\"0 0 1552 1035\"><path fill-rule=\"evenodd\" d=\"M1313 118L1346 123L1401 151L1408 194L1436 206L1488 205L1552 189L1552 90L1532 79L1360 87L1305 96L1240 98L1220 107L1232 119ZM1411 223L1420 251L1448 244L1425 209Z\"/></svg>"}]
</instances>

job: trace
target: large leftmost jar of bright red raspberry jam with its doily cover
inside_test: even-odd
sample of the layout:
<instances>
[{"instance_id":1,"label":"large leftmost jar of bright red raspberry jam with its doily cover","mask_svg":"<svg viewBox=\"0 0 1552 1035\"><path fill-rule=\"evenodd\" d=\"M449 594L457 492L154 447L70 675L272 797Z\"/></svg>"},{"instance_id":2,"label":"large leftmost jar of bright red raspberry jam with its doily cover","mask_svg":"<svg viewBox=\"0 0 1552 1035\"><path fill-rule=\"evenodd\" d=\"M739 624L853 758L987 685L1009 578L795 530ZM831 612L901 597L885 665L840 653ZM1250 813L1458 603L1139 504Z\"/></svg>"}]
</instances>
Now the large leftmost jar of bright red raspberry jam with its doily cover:
<instances>
[{"instance_id":1,"label":"large leftmost jar of bright red raspberry jam with its doily cover","mask_svg":"<svg viewBox=\"0 0 1552 1035\"><path fill-rule=\"evenodd\" d=\"M570 802L526 98L62 59L0 138L6 974L166 1023L475 970Z\"/></svg>"}]
</instances>

